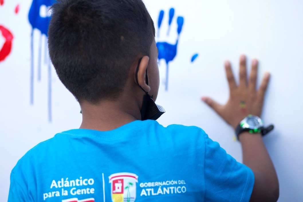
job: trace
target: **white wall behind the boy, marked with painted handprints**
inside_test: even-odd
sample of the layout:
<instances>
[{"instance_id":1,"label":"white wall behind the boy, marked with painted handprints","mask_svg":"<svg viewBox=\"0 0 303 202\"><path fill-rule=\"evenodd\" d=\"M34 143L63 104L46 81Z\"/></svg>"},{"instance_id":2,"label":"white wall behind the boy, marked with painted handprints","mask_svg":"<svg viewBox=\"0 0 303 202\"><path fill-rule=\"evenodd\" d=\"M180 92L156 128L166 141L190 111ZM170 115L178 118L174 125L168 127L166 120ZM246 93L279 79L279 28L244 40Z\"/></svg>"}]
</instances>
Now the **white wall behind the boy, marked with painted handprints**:
<instances>
[{"instance_id":1,"label":"white wall behind the boy, marked with painted handprints","mask_svg":"<svg viewBox=\"0 0 303 202\"><path fill-rule=\"evenodd\" d=\"M78 103L53 69L52 122L48 121L48 71L44 62L41 81L37 81L38 30L34 32L34 104L30 105L31 26L27 16L31 2L11 0L0 6L0 25L14 35L11 54L0 62L0 201L7 200L10 171L27 150L55 133L78 128L81 123ZM156 103L166 113L158 119L159 123L199 126L241 161L241 147L233 141L233 130L200 98L211 96L221 103L228 99L225 59L230 59L235 73L242 53L249 61L259 59L259 80L266 71L271 72L262 118L266 124L275 124L275 130L264 141L280 181L278 201L303 201L303 2L145 0L145 3L156 27L160 9L165 11L160 29L163 34L156 37L157 41L175 42L176 16L185 20L177 56L169 63L168 91L160 85ZM16 15L17 4L20 12ZM167 14L171 7L175 8L175 19L167 37ZM3 42L0 35L0 49ZM195 53L199 56L191 63ZM165 82L165 68L165 62L160 61L161 83Z\"/></svg>"}]
</instances>

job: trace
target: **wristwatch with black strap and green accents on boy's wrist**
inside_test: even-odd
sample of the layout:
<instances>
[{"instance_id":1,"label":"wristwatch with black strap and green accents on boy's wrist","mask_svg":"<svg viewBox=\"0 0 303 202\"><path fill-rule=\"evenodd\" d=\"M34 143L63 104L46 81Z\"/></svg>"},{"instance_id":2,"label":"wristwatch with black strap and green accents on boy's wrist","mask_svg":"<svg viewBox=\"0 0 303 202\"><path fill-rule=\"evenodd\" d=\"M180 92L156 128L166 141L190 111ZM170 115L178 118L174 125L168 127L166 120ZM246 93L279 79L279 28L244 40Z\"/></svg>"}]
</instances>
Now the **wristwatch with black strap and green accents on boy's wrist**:
<instances>
[{"instance_id":1,"label":"wristwatch with black strap and green accents on boy's wrist","mask_svg":"<svg viewBox=\"0 0 303 202\"><path fill-rule=\"evenodd\" d=\"M269 125L268 127L264 127L264 123L260 117L249 114L246 116L236 128L237 139L239 139L239 135L248 131L249 133L261 133L262 136L266 135L268 132L274 129L274 125Z\"/></svg>"}]
</instances>

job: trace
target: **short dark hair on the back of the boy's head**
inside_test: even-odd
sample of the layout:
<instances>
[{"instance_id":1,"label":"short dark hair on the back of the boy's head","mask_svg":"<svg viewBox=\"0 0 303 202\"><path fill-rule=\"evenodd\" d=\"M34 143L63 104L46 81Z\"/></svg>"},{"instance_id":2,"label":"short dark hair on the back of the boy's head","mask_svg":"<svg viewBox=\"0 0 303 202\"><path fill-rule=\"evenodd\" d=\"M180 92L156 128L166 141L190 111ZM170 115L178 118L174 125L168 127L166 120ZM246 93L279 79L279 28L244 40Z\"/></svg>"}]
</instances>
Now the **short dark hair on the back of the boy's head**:
<instances>
[{"instance_id":1,"label":"short dark hair on the back of the boy's head","mask_svg":"<svg viewBox=\"0 0 303 202\"><path fill-rule=\"evenodd\" d=\"M80 103L118 98L155 38L142 0L57 0L51 10L49 55L65 87Z\"/></svg>"}]
</instances>

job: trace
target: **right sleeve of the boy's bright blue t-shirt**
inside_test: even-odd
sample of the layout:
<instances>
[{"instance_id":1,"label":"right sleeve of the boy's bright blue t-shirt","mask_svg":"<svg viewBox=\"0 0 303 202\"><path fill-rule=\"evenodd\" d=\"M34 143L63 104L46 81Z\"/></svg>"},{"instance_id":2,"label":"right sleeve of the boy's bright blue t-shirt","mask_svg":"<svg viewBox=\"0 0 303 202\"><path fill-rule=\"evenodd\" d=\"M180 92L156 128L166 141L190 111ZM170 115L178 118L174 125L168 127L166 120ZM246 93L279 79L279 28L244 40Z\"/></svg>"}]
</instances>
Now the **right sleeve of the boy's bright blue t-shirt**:
<instances>
[{"instance_id":1,"label":"right sleeve of the boy's bright blue t-shirt","mask_svg":"<svg viewBox=\"0 0 303 202\"><path fill-rule=\"evenodd\" d=\"M205 134L205 201L248 202L254 186L254 173L237 162L219 143Z\"/></svg>"}]
</instances>

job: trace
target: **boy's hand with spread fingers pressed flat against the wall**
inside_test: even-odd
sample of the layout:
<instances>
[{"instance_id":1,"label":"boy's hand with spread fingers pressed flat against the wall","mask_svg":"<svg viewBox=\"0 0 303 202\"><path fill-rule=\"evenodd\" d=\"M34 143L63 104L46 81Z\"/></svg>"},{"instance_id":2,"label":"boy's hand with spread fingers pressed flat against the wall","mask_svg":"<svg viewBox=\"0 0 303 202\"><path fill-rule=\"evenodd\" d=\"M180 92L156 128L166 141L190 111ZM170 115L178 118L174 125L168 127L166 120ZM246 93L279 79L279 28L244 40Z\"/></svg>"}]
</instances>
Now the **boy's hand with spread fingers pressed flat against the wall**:
<instances>
[{"instance_id":1,"label":"boy's hand with spread fingers pressed flat against the wall","mask_svg":"<svg viewBox=\"0 0 303 202\"><path fill-rule=\"evenodd\" d=\"M202 100L235 129L248 114L261 116L270 74L268 72L265 73L260 88L256 90L258 70L258 61L256 59L251 63L251 73L247 81L246 57L244 55L240 57L240 81L238 86L228 61L225 62L225 70L230 92L227 103L220 105L209 97L202 97Z\"/></svg>"}]
</instances>

